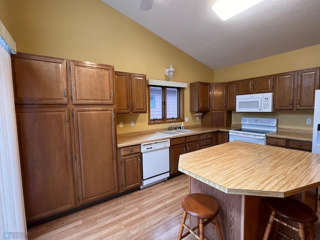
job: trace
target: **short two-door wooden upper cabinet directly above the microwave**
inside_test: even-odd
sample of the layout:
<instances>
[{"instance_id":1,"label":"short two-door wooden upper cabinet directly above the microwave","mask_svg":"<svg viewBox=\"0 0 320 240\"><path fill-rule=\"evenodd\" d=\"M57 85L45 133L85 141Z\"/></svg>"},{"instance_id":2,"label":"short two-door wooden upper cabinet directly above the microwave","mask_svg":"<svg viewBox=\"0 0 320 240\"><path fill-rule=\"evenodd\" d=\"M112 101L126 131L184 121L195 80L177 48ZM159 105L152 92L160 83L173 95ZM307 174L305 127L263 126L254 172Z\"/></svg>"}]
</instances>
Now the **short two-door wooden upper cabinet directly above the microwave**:
<instances>
[{"instance_id":1,"label":"short two-door wooden upper cabinet directly above the microwave","mask_svg":"<svg viewBox=\"0 0 320 240\"><path fill-rule=\"evenodd\" d=\"M239 95L272 92L273 75L239 80Z\"/></svg>"}]
</instances>

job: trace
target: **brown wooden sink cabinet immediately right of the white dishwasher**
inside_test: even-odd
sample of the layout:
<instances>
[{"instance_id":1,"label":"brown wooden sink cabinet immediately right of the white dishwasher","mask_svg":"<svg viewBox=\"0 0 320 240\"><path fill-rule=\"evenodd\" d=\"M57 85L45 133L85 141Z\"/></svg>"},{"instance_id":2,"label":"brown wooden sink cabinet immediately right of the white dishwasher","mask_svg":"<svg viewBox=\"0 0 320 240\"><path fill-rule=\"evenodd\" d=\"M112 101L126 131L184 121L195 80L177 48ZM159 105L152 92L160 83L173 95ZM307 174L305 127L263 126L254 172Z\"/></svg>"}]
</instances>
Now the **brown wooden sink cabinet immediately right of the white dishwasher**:
<instances>
[{"instance_id":1,"label":"brown wooden sink cabinet immediately right of the white dishwasher","mask_svg":"<svg viewBox=\"0 0 320 240\"><path fill-rule=\"evenodd\" d=\"M170 176L179 174L180 154L200 149L200 134L170 139Z\"/></svg>"}]
</instances>

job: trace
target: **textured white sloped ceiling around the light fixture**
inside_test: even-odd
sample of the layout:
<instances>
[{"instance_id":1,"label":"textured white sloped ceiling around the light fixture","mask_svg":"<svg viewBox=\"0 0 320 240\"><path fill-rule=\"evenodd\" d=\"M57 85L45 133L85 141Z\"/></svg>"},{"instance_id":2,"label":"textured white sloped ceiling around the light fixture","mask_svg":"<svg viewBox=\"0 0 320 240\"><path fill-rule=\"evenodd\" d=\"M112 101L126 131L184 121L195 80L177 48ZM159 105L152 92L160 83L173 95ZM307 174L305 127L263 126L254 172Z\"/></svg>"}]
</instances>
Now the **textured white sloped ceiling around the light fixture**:
<instances>
[{"instance_id":1,"label":"textured white sloped ceiling around the light fixture","mask_svg":"<svg viewBox=\"0 0 320 240\"><path fill-rule=\"evenodd\" d=\"M226 21L216 0L154 0L148 11L102 1L212 69L320 43L320 0L263 0Z\"/></svg>"}]
</instances>

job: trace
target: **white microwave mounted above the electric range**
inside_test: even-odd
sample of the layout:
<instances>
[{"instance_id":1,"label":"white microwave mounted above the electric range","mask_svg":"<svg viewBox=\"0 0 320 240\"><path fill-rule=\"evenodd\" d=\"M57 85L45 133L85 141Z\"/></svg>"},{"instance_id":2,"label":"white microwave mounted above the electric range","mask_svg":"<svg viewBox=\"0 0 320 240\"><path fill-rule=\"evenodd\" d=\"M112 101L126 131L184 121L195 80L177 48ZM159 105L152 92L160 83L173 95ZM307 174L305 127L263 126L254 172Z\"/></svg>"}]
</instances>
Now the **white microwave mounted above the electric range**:
<instances>
[{"instance_id":1,"label":"white microwave mounted above the electric range","mask_svg":"<svg viewBox=\"0 0 320 240\"><path fill-rule=\"evenodd\" d=\"M271 112L273 111L273 92L235 96L235 111Z\"/></svg>"}]
</instances>

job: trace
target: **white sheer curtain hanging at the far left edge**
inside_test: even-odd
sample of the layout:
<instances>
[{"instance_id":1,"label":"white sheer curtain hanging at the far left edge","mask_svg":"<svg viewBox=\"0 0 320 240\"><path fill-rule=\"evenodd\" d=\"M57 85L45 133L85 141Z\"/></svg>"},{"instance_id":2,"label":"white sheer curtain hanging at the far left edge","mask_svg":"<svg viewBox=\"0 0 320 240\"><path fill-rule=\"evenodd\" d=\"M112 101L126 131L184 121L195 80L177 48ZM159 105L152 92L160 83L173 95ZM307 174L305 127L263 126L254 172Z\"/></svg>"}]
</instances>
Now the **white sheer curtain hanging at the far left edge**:
<instances>
[{"instance_id":1,"label":"white sheer curtain hanging at the far left edge","mask_svg":"<svg viewBox=\"0 0 320 240\"><path fill-rule=\"evenodd\" d=\"M0 238L27 238L11 74L0 36Z\"/></svg>"}]
</instances>

